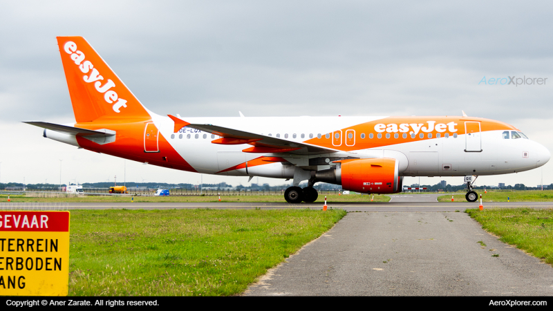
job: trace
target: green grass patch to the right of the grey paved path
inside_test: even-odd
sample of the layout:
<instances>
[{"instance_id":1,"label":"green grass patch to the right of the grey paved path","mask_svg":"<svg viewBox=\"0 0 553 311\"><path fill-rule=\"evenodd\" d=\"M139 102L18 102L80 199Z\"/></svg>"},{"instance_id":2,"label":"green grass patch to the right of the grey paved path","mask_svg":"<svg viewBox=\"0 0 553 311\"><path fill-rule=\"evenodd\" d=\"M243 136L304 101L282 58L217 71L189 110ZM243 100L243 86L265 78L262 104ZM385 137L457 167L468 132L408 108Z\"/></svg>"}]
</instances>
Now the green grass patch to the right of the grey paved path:
<instances>
[{"instance_id":1,"label":"green grass patch to the right of the grey paved path","mask_svg":"<svg viewBox=\"0 0 553 311\"><path fill-rule=\"evenodd\" d=\"M467 209L467 213L503 243L553 265L553 209Z\"/></svg>"}]
</instances>

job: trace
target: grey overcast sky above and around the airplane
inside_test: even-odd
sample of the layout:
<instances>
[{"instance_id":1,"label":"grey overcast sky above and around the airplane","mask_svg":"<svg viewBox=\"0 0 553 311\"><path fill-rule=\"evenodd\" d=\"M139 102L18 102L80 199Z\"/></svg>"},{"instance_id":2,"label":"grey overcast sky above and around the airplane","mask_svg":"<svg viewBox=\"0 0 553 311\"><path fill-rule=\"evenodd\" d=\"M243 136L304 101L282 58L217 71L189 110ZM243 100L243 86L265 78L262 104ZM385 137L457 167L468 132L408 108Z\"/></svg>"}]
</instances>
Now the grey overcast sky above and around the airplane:
<instances>
[{"instance_id":1,"label":"grey overcast sky above and around the airplane","mask_svg":"<svg viewBox=\"0 0 553 311\"><path fill-rule=\"evenodd\" d=\"M553 151L552 16L550 1L0 1L0 182L58 183L60 163L62 182L200 180L77 150L21 123L74 121L55 40L67 35L85 37L162 115L463 110L513 124ZM512 76L547 80L479 84ZM535 187L541 173L482 176L477 184ZM440 179L462 183L421 182ZM203 181L246 185L247 178ZM553 182L551 163L543 182Z\"/></svg>"}]
</instances>

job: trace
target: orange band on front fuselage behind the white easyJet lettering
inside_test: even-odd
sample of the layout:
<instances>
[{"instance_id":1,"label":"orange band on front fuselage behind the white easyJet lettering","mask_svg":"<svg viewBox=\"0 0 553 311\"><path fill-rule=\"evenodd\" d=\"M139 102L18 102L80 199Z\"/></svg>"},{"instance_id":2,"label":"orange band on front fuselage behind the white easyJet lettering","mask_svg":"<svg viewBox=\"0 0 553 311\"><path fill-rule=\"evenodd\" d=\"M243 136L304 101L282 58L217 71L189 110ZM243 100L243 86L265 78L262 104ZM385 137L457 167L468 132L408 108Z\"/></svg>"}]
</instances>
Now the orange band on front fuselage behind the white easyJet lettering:
<instances>
[{"instance_id":1,"label":"orange band on front fuselage behind the white easyJet lettering","mask_svg":"<svg viewBox=\"0 0 553 311\"><path fill-rule=\"evenodd\" d=\"M431 123L429 123L429 121ZM453 122L454 125L451 124L451 122ZM438 133L440 133L442 137L444 137L446 133L449 133L450 136L453 136L454 133L462 135L465 134L465 122L480 122L480 130L482 132L499 130L518 131L518 129L514 126L507 123L480 117L385 117L384 119L357 124L344 129L337 129L329 133L330 138L326 138L326 135L323 135L321 138L312 138L310 140L306 140L305 142L315 146L341 151L370 149L391 146L393 144L403 144L406 142L429 140L436 138L436 134ZM379 129L379 131L377 131L377 129L375 129L377 124L383 124L384 126L381 125L377 128ZM402 126L402 124L404 125ZM411 124L415 124L415 126L411 126ZM438 127L439 131L436 129L438 124L444 124L444 126L440 125ZM449 126L449 124L451 124L451 126ZM427 131L422 131L423 128ZM433 128L432 131L429 131L431 128ZM408 129L408 131L405 131L405 129ZM455 131L452 131L453 129ZM355 131L355 137L348 140L347 134L353 134L350 130ZM334 135L336 133L340 133L340 131L341 138L336 139ZM411 138L411 132L416 133L415 138ZM361 138L362 133L365 134L365 138ZM369 138L369 134L371 133L373 134L373 138ZM379 133L382 134L382 138L377 138ZM386 138L387 133L390 134L390 138ZM395 133L398 134L398 138L394 138ZM403 138L404 133L407 134L407 138ZM420 138L420 133L424 133L424 138ZM432 134L432 138L428 138L429 133ZM355 142L353 142L353 139L355 139ZM334 144L332 142L334 142ZM351 146L348 146L346 142ZM338 146L338 144L340 145Z\"/></svg>"}]
</instances>

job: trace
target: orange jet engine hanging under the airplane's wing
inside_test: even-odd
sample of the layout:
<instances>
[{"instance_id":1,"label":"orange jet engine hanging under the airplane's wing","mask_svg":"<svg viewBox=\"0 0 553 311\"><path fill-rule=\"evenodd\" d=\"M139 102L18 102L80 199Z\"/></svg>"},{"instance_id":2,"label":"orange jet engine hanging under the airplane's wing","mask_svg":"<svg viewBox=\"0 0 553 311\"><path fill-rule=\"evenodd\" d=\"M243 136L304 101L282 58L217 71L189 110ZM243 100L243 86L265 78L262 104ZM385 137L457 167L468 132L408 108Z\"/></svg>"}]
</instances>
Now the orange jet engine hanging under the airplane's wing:
<instances>
[{"instance_id":1,"label":"orange jet engine hanging under the airplane's wing","mask_svg":"<svg viewBox=\"0 0 553 311\"><path fill-rule=\"evenodd\" d=\"M344 190L366 194L395 194L402 191L400 163L393 158L348 159L336 167L317 171L317 181L341 185Z\"/></svg>"}]
</instances>

